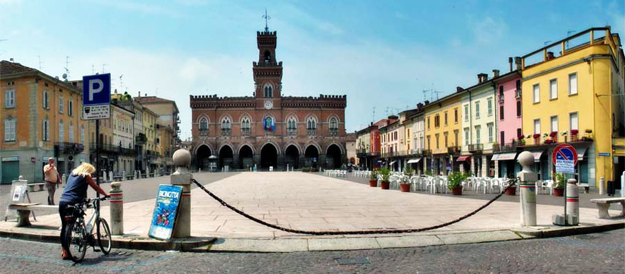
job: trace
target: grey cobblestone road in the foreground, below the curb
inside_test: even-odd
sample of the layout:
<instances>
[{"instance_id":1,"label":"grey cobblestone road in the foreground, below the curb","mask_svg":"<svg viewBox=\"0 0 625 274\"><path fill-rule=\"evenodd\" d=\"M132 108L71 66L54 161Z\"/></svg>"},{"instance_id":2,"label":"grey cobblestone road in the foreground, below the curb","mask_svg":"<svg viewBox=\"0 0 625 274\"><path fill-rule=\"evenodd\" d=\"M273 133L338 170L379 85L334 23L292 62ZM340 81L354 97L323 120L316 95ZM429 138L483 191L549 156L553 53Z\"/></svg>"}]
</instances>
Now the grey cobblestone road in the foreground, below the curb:
<instances>
[{"instance_id":1,"label":"grey cobblestone road in the foreground, below the curb","mask_svg":"<svg viewBox=\"0 0 625 274\"><path fill-rule=\"evenodd\" d=\"M73 264L60 260L58 244L0 238L0 272L623 273L624 239L625 229L618 229L563 238L361 251L170 253L114 249L109 256L102 256L89 250L84 262Z\"/></svg>"}]
</instances>

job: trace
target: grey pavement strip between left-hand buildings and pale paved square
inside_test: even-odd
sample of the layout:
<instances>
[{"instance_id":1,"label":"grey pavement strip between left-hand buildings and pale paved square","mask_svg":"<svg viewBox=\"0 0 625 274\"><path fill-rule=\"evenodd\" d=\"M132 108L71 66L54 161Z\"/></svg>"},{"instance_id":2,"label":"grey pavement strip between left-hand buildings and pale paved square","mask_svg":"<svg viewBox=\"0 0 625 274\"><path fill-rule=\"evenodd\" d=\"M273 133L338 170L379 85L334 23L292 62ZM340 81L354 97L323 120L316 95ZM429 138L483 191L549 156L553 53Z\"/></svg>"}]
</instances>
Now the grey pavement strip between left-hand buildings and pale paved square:
<instances>
[{"instance_id":1,"label":"grey pavement strip between left-hand buildings and pale paved square","mask_svg":"<svg viewBox=\"0 0 625 274\"><path fill-rule=\"evenodd\" d=\"M220 179L224 179L230 177L232 175L238 174L237 172L229 172L229 173L193 173L194 178L198 179L202 184L210 184L216 182ZM159 184L170 184L169 176L161 176L161 177L152 177L146 179L134 179L130 181L122 182L122 190L124 190L124 203L130 203L133 201L142 201L146 199L155 199L157 195L157 189L159 188ZM100 184L102 189L109 191L111 190L110 183ZM191 185L191 189L196 188L197 186ZM0 219L4 220L4 214L6 209L6 204L9 199L9 192L11 191L10 184L3 184L0 186ZM56 193L54 194L54 201L58 204L58 199L60 195L63 193L63 188L58 188ZM37 191L37 192L29 192L30 199L33 203L41 203L47 204L47 191ZM89 197L95 197L95 191L89 188ZM108 206L109 202L105 201L102 203L102 206Z\"/></svg>"}]
</instances>

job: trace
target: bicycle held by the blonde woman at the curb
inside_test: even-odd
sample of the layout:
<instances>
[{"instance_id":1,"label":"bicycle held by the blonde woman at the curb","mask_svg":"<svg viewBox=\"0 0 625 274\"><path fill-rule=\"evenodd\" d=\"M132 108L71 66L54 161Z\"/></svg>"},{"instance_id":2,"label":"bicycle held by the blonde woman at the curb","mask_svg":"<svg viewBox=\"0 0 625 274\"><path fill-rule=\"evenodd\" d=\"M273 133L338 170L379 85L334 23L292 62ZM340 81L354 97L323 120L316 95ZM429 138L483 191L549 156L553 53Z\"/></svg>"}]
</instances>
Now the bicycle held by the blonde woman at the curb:
<instances>
[{"instance_id":1,"label":"bicycle held by the blonde woman at the curb","mask_svg":"<svg viewBox=\"0 0 625 274\"><path fill-rule=\"evenodd\" d=\"M65 227L65 235L63 235L65 250L69 253L69 257L73 262L82 262L84 253L87 252L89 246L93 247L93 251L102 251L104 255L111 252L111 229L106 220L100 218L100 201L106 200L106 197L87 199L82 203L74 206L71 214L65 216L67 226ZM84 216L87 215L84 208L93 208L94 212L87 223L84 222ZM74 220L74 221L72 221ZM93 234L93 224L95 223L95 237ZM100 250L95 249L95 239L97 237ZM89 245L89 246L87 246Z\"/></svg>"}]
</instances>

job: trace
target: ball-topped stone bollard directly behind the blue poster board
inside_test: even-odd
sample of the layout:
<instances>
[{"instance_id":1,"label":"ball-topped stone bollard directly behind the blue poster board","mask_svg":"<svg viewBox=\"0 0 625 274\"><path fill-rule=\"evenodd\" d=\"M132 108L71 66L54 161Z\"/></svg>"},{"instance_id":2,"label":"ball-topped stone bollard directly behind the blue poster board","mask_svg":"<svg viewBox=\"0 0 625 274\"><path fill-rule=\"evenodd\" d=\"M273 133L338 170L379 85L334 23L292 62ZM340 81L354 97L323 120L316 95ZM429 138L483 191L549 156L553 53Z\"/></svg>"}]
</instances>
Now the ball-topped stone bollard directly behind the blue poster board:
<instances>
[{"instance_id":1,"label":"ball-topped stone bollard directly behind the blue poster board","mask_svg":"<svg viewBox=\"0 0 625 274\"><path fill-rule=\"evenodd\" d=\"M191 153L186 149L178 149L173 155L176 172L171 175L174 186L182 186L182 197L178 206L178 216L173 238L188 238L191 236L191 179L193 175L188 170L191 164Z\"/></svg>"}]
</instances>

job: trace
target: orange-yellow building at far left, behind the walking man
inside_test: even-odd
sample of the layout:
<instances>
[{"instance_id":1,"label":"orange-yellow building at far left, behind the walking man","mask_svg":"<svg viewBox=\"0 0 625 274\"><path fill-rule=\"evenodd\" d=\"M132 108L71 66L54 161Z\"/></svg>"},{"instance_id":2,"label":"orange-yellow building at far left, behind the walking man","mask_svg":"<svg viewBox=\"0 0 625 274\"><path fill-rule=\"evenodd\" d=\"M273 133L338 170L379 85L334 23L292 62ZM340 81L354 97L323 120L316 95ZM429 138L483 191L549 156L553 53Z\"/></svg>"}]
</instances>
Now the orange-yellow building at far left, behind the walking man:
<instances>
[{"instance_id":1,"label":"orange-yellow building at far left, behind the walking man","mask_svg":"<svg viewBox=\"0 0 625 274\"><path fill-rule=\"evenodd\" d=\"M0 62L0 184L22 175L43 181L43 165L56 158L68 174L89 160L84 145L82 90L16 62Z\"/></svg>"}]
</instances>

